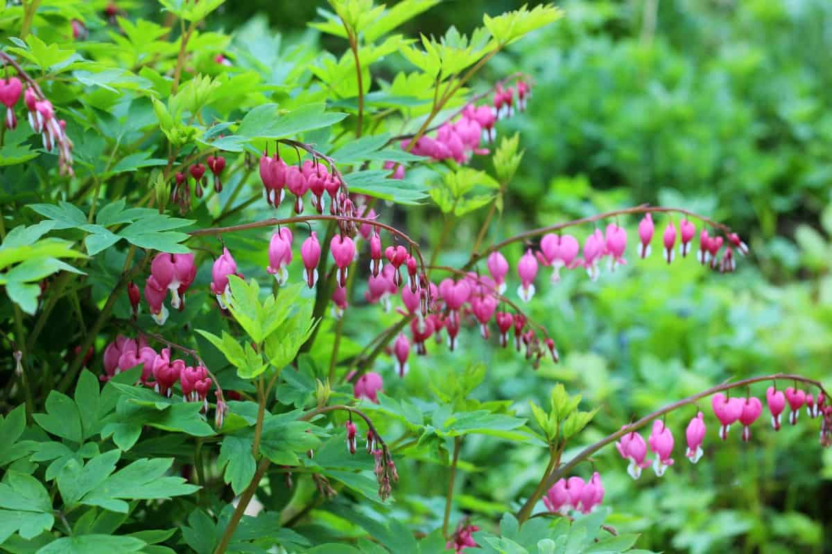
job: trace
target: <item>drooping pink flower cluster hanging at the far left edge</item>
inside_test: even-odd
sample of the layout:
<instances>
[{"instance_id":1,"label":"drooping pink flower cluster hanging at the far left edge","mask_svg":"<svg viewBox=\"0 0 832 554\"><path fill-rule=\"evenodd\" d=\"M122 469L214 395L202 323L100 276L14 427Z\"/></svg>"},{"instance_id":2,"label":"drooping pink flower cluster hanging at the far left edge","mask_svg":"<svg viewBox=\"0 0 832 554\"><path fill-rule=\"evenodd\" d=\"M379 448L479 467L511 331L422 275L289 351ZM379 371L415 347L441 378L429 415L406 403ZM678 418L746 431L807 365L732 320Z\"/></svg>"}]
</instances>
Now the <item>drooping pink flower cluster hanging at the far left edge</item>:
<instances>
[{"instance_id":1,"label":"drooping pink flower cluster hanging at the far left edge","mask_svg":"<svg viewBox=\"0 0 832 554\"><path fill-rule=\"evenodd\" d=\"M17 115L14 108L23 96L29 125L34 132L41 135L44 150L47 152L57 150L61 174L72 175L72 140L67 136L67 122L57 118L52 102L43 96L34 81L30 80L27 83L29 86L24 91L22 81L18 76L7 75L4 79L0 78L0 103L6 106L6 128L17 128Z\"/></svg>"}]
</instances>

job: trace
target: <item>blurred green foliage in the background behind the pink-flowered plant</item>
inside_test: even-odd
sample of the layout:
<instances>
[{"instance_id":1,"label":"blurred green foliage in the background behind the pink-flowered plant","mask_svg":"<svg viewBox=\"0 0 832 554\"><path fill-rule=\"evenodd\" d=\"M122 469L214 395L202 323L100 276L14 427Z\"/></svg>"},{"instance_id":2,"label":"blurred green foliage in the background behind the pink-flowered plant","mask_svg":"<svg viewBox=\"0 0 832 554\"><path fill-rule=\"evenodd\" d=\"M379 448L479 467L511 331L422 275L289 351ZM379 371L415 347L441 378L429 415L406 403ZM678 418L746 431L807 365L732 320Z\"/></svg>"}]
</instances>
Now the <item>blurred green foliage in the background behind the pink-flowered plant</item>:
<instances>
[{"instance_id":1,"label":"blurred green foliage in the background behind the pink-flowered plant","mask_svg":"<svg viewBox=\"0 0 832 554\"><path fill-rule=\"evenodd\" d=\"M321 3L229 2L225 18L228 28L267 17L285 35L309 33L305 22ZM443 2L408 31L438 35L453 25L469 32L483 12L519 4ZM588 444L730 377L795 371L828 380L832 2L561 5L567 14L562 22L498 57L473 86L485 90L489 80L518 70L535 83L528 113L500 125L503 133L521 132L526 155L490 238L650 202L729 223L752 254L734 275L707 271L691 259L667 267L656 255L646 262L631 259L595 283L571 272L549 286L542 272L532 316L552 331L562 363L534 372L513 352L488 351L473 334L463 336L463 355L489 365L478 395L518 400L518 410L527 414L527 399L547 402L552 384L562 380L582 393L587 408L601 407L584 433ZM332 37L308 38L344 49ZM387 76L398 64L389 61ZM490 161L478 164L489 168ZM430 244L438 237L440 218L428 209L397 218L411 218L409 228L434 218L425 238ZM474 217L458 225L456 243L473 243L478 223ZM632 245L636 221L623 223ZM521 252L505 253L515 262ZM464 249L448 251L440 261L461 263L466 256ZM354 317L355 341L378 329L377 311L356 311ZM388 388L418 394L428 376L441 380L443 371L458 366L459 356L442 350L412 360L404 381L385 374L391 375ZM765 387L751 392L762 396ZM643 533L640 547L664 552L832 552L826 546L832 535L832 451L820 448L818 420L804 412L800 424L775 434L764 413L750 444L740 443L736 429L722 443L710 403L701 408L708 434L706 456L696 466L681 449L693 409L668 419L676 434L676 465L664 478L646 472L633 482L614 449L597 457L605 504L614 508L609 523ZM541 449L507 449L493 438L469 440L462 458L461 507L495 517L516 507L513 501L530 492L545 465ZM591 471L581 469L584 477ZM399 503L409 513L441 503L444 472L426 464L406 468L407 493L399 494Z\"/></svg>"}]
</instances>

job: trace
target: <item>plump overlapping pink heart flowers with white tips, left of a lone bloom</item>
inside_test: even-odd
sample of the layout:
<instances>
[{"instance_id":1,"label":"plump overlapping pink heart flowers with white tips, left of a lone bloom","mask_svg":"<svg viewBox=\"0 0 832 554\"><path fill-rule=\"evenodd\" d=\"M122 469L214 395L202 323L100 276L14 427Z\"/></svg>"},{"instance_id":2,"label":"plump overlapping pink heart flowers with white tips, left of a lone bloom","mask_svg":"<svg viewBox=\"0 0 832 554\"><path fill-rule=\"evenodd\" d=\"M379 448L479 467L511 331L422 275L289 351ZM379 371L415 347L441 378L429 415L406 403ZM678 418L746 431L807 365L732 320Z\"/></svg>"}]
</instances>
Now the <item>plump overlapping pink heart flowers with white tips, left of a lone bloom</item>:
<instances>
[{"instance_id":1,"label":"plump overlapping pink heart flowers with white tips, left of a lone bloom","mask_svg":"<svg viewBox=\"0 0 832 554\"><path fill-rule=\"evenodd\" d=\"M153 321L156 321L158 325L164 325L167 321L169 312L165 301L168 292L171 292L171 307L180 311L185 309L185 293L191 287L195 277L196 266L192 253L160 252L156 254L151 262L151 275L147 277L145 283L145 299L150 306Z\"/></svg>"}]
</instances>

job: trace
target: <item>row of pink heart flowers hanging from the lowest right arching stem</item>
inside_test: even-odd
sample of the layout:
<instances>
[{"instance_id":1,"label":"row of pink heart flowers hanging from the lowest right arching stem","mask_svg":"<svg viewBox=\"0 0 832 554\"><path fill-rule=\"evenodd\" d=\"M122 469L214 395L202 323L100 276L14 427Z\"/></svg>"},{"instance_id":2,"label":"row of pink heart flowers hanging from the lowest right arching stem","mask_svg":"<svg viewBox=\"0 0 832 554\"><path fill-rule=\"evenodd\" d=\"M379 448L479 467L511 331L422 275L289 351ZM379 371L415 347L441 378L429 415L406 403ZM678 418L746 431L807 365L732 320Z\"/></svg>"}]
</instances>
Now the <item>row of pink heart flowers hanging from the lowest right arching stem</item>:
<instances>
[{"instance_id":1,"label":"row of pink heart flowers hanging from the lowest right arching stem","mask_svg":"<svg viewBox=\"0 0 832 554\"><path fill-rule=\"evenodd\" d=\"M780 414L785 409L786 401L790 406L789 420L791 424L797 424L798 414L800 409L806 406L806 413L810 418L818 416L824 417L820 428L820 442L827 446L830 443L830 429L828 419L832 418L832 406L826 405L826 398L822 391L813 396L810 392L800 390L797 387L789 387L783 391L776 390L775 386L770 386L765 392L767 404L771 414L771 426L775 431L780 430ZM750 426L760 418L763 411L763 404L754 396L746 398L729 397L724 393L716 393L711 396L711 406L714 410L716 419L720 422L719 436L720 439L726 440L730 426L736 422L740 422L743 426L741 439L743 442L748 442L751 438ZM626 429L625 425L622 429ZM686 457L691 460L691 463L696 463L702 457L702 441L705 439L706 424L704 414L698 412L696 417L691 419L687 425L685 438L687 442ZM653 470L656 475L661 477L666 471L666 468L673 464L671 453L674 448L674 439L671 429L666 427L663 420L656 419L653 421L653 430L649 438L650 449L656 454L653 461ZM622 435L616 444L618 452L622 458L630 461L627 473L631 477L637 479L641 476L641 469L646 468L651 464L651 461L646 458L647 448L646 443L641 435L636 431L631 431Z\"/></svg>"}]
</instances>

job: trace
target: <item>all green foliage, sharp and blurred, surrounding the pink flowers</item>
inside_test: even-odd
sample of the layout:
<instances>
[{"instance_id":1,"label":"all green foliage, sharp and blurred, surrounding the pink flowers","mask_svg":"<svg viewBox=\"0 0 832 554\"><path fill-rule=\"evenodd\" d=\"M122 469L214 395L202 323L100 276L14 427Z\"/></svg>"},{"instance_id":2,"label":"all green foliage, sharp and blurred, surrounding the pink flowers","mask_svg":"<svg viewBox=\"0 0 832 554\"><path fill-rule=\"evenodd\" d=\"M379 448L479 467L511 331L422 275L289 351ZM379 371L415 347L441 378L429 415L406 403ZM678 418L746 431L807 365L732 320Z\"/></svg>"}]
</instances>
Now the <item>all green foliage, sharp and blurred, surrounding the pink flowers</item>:
<instances>
[{"instance_id":1,"label":"all green foliage, sharp and blurred, surrounding the pink flowers","mask_svg":"<svg viewBox=\"0 0 832 554\"><path fill-rule=\"evenodd\" d=\"M7 6L0 49L52 102L74 161L72 174L56 163L18 102L17 129L0 131L11 301L0 302L0 551L433 554L469 525L478 547L464 552L823 549L832 455L802 415L778 434L756 424L750 444L717 443L705 410L706 456L690 466L682 433L696 409L681 409L666 417L676 463L664 478L631 481L607 446L567 475L602 474L600 509L521 507L588 445L710 385L770 368L832 390L828 7L567 0L501 14L505 3ZM526 114L519 80L533 89ZM464 163L408 150L469 103L493 105L497 82L515 91L517 115L500 118L493 144ZM387 347L413 336L410 321L396 295L391 311L365 302L364 239L308 203L295 218L291 194L265 203L264 153L337 169L359 214L373 208L413 239L383 231L384 247L406 243L437 283L460 277L437 267L485 277L489 244L644 202L725 221L754 253L735 277L691 256L636 260L636 218L599 220L626 228L629 263L597 282L564 269L551 286L541 266L534 301L514 306L518 257L538 241L522 234L501 249L497 309L546 327L562 361L498 348L493 323L483 340L465 309L459 348L428 340L399 375ZM192 169L209 156L225 168L197 186ZM264 268L272 229L287 226L294 257L280 284ZM583 242L591 227L564 232ZM312 230L322 252L309 290L299 248ZM341 319L330 310L337 233L356 238L359 258ZM218 308L223 248L236 267ZM196 270L161 327L144 288L159 252L191 253ZM140 335L140 347L204 363L209 394L186 398L180 377L160 395L153 371L125 370L121 355L114 369L113 346ZM370 371L384 379L378 402L355 398ZM232 498L245 507L250 492L260 512L235 514Z\"/></svg>"}]
</instances>

